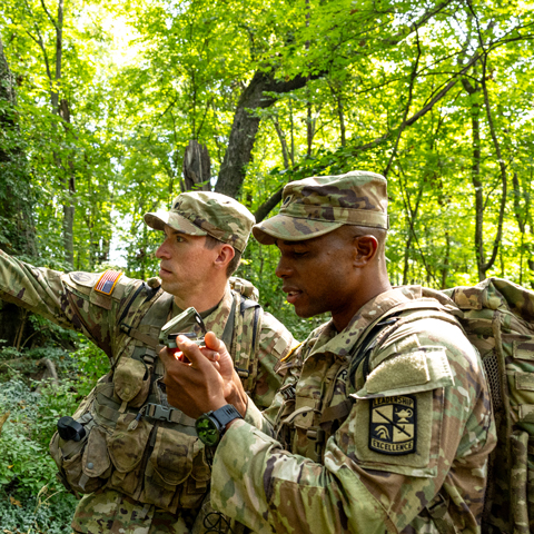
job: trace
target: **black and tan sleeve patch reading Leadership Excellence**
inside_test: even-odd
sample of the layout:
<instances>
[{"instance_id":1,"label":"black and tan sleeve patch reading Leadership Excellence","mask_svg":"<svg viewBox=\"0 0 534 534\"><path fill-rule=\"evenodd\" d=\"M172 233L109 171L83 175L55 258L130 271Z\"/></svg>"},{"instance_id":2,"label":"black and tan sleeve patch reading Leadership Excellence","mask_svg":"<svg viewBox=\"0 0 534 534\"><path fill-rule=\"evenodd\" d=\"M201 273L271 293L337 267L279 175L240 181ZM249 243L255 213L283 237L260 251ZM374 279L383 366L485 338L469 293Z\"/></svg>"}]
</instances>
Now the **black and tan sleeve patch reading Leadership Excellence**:
<instances>
[{"instance_id":1,"label":"black and tan sleeve patch reading Leadership Excellence","mask_svg":"<svg viewBox=\"0 0 534 534\"><path fill-rule=\"evenodd\" d=\"M382 454L416 452L417 404L414 395L369 399L369 448Z\"/></svg>"}]
</instances>

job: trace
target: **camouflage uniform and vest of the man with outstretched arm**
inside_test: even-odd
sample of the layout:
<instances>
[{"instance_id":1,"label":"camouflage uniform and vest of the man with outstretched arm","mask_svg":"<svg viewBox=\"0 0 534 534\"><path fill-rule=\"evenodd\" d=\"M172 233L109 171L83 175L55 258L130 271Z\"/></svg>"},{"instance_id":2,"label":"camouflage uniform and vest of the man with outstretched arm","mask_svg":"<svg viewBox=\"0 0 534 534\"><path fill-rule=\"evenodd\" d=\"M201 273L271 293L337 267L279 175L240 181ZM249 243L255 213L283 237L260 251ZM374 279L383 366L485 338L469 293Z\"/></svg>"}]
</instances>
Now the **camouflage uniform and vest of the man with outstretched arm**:
<instances>
[{"instance_id":1,"label":"camouflage uniform and vest of the man with outstretched arm","mask_svg":"<svg viewBox=\"0 0 534 534\"><path fill-rule=\"evenodd\" d=\"M65 443L58 435L51 444L62 476L75 491L100 492L83 500L73 528L105 532L101 524L106 517L99 516L96 508L91 510L91 500L98 510L107 503L103 507L108 513L110 503L117 502L118 491L129 496L130 504L137 503L137 512L132 515L128 508L125 513L120 510L113 513L117 517L135 516L136 522L130 525L120 520L113 528L123 534L140 533L144 532L141 527L150 527L151 517L157 518L158 524L165 517L172 517L167 530L158 527L157 532L175 532L174 528L180 532L179 525L192 517L200 506L210 478L194 419L175 408L165 409L168 407L166 396L156 380L164 372L157 358L159 332L181 310L174 305L172 296L154 280L149 285L121 276L112 294L103 295L95 290L99 278L98 274L62 274L36 268L0 251L2 299L41 314L66 328L82 332L110 359L110 373L98 382L73 415L90 429L88 445L85 446L86 442ZM248 293L244 280L236 286ZM246 339L253 337L250 325L256 313L255 303L243 309L241 296L228 288L221 303L204 317L204 322L221 337L233 303L236 304L234 342L236 350L241 350L236 353L239 354L236 365L250 370L244 385L254 402L265 407L281 382L274 367L295 342L280 323L264 313L259 317L256 357L249 358L244 346L250 346ZM148 404L159 406L162 416L157 417L158 413L149 411ZM147 459L148 451L151 454Z\"/></svg>"}]
</instances>

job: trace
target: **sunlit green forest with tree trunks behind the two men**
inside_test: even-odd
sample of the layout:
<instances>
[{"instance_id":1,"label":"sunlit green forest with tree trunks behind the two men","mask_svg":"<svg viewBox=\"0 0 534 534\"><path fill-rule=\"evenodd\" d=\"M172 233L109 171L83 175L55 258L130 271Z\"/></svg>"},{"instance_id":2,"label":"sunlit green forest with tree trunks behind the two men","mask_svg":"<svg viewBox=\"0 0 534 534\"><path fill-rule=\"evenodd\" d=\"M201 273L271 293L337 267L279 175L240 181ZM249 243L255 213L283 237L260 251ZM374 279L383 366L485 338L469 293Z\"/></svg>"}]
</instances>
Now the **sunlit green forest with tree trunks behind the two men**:
<instances>
[{"instance_id":1,"label":"sunlit green forest with tree trunks behind the two men","mask_svg":"<svg viewBox=\"0 0 534 534\"><path fill-rule=\"evenodd\" d=\"M160 235L142 215L181 190L230 195L261 220L290 180L365 169L388 179L394 284L498 276L532 288L533 8L4 0L0 247L146 279ZM190 141L211 159L196 184L182 174ZM304 338L319 319L295 316L276 263L276 247L250 243L238 275ZM0 526L69 533L76 501L48 441L106 357L6 303L0 339Z\"/></svg>"}]
</instances>

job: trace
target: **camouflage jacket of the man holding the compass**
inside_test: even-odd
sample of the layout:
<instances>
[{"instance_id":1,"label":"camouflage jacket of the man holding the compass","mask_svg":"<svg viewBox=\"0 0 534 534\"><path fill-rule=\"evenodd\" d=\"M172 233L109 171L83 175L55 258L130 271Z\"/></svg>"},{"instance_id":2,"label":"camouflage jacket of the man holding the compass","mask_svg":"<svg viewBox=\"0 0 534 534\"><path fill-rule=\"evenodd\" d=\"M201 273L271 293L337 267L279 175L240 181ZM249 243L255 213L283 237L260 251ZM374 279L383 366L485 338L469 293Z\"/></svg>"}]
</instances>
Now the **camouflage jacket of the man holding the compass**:
<instances>
[{"instance_id":1,"label":"camouflage jacket of the man holding the compass","mask_svg":"<svg viewBox=\"0 0 534 534\"><path fill-rule=\"evenodd\" d=\"M421 296L419 286L378 295L342 333L328 323L283 362L296 387L264 414L249 404L217 448L216 510L261 533L434 534L442 520L479 532L495 424L455 318L406 309L370 352L367 379L363 364L347 379L353 347L379 317L437 305Z\"/></svg>"}]
</instances>

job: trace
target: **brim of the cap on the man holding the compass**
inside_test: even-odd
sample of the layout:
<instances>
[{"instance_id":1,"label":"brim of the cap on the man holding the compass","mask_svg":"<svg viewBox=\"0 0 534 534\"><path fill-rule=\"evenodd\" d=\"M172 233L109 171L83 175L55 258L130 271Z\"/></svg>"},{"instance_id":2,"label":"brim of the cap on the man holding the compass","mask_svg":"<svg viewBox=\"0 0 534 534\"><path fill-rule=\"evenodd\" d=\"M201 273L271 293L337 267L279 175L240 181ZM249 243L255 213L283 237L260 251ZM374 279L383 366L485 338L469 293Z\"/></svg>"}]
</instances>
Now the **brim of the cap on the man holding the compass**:
<instances>
[{"instance_id":1,"label":"brim of the cap on the man holding the compass","mask_svg":"<svg viewBox=\"0 0 534 534\"><path fill-rule=\"evenodd\" d=\"M253 235L261 245L274 245L277 239L283 241L304 241L324 236L343 225L344 222L328 222L275 215L275 217L253 226Z\"/></svg>"}]
</instances>

